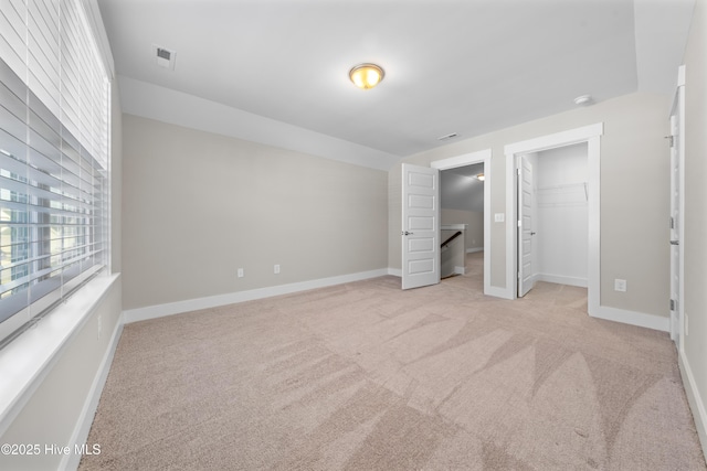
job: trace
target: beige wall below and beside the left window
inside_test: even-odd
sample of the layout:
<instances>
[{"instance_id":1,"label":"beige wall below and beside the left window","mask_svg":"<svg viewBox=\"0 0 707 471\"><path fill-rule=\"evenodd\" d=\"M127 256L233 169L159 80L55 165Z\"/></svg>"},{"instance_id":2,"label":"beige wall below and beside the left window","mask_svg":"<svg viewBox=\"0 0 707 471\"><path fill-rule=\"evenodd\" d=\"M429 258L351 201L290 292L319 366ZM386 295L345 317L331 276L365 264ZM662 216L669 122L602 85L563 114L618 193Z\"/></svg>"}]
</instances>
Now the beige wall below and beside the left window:
<instances>
[{"instance_id":1,"label":"beige wall below and beside the left window","mask_svg":"<svg viewBox=\"0 0 707 471\"><path fill-rule=\"evenodd\" d=\"M112 104L112 167L122 167L120 153L120 100L118 89L113 88ZM112 175L112 232L113 232L113 271L117 272L120 257L120 176L119 171ZM116 197L118 196L118 197ZM118 261L118 263L116 263ZM62 459L77 463L80 457L44 453L44 445L70 446L82 419L87 403L93 399L92 387L102 371L103 362L112 354L115 345L114 333L123 312L120 279L116 280L91 311L83 327L75 332L52 358L46 376L41 379L36 390L2 435L2 443L38 443L41 453L36 457L0 456L2 470L52 470L59 469ZM101 325L101 328L98 328ZM101 334L98 334L101 332ZM102 387L102 386L101 386ZM95 405L95 404L94 404ZM92 420L95 410L88 410ZM84 430L87 432L87 429ZM82 437L80 437L82 438ZM82 443L78 443L82 445Z\"/></svg>"}]
</instances>

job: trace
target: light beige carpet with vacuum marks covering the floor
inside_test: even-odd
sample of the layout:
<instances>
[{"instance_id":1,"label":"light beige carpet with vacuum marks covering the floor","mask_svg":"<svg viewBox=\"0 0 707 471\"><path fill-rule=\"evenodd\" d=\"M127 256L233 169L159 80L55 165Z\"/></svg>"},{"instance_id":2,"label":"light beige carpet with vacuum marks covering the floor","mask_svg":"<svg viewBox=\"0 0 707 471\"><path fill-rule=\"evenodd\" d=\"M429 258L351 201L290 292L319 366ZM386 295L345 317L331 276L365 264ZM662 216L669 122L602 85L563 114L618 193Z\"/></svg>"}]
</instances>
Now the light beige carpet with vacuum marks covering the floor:
<instances>
[{"instance_id":1,"label":"light beige carpet with vacuum marks covering the floor","mask_svg":"<svg viewBox=\"0 0 707 471\"><path fill-rule=\"evenodd\" d=\"M80 469L706 469L666 333L482 269L126 325Z\"/></svg>"}]
</instances>

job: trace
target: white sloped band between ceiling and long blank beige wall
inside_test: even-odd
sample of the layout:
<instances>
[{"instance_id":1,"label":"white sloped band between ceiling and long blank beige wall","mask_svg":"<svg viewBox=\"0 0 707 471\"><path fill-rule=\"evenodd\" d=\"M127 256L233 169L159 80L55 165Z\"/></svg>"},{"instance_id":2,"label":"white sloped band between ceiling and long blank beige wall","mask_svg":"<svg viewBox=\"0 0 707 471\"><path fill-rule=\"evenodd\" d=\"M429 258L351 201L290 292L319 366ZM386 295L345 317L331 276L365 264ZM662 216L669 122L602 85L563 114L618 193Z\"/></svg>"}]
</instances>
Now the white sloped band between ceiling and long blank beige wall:
<instances>
[{"instance_id":1,"label":"white sloped band between ceiling and long blank beige wall","mask_svg":"<svg viewBox=\"0 0 707 471\"><path fill-rule=\"evenodd\" d=\"M265 146L390 170L399 156L118 74L123 113Z\"/></svg>"}]
</instances>

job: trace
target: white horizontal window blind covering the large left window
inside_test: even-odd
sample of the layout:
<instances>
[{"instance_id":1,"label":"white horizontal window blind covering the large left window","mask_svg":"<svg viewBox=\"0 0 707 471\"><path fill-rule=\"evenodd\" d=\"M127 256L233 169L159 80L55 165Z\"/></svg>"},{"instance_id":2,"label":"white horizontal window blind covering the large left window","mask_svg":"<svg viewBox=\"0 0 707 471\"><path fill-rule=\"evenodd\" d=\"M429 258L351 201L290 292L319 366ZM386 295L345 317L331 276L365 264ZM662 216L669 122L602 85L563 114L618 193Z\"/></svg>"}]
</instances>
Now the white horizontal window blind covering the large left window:
<instances>
[{"instance_id":1,"label":"white horizontal window blind covering the large left window","mask_svg":"<svg viewBox=\"0 0 707 471\"><path fill-rule=\"evenodd\" d=\"M81 0L0 1L0 342L107 265L108 116Z\"/></svg>"}]
</instances>

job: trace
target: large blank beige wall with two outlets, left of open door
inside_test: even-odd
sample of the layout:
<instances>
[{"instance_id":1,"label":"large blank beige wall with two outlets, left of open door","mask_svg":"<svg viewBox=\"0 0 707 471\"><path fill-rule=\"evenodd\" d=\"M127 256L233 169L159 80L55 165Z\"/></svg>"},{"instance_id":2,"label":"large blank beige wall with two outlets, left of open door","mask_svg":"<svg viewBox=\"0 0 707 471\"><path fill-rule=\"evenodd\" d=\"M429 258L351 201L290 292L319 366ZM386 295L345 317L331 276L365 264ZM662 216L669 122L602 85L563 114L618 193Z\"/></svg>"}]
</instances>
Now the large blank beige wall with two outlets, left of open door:
<instances>
[{"instance_id":1,"label":"large blank beige wall with two outlets, left of open door","mask_svg":"<svg viewBox=\"0 0 707 471\"><path fill-rule=\"evenodd\" d=\"M387 268L384 171L131 115L123 126L124 309Z\"/></svg>"}]
</instances>

